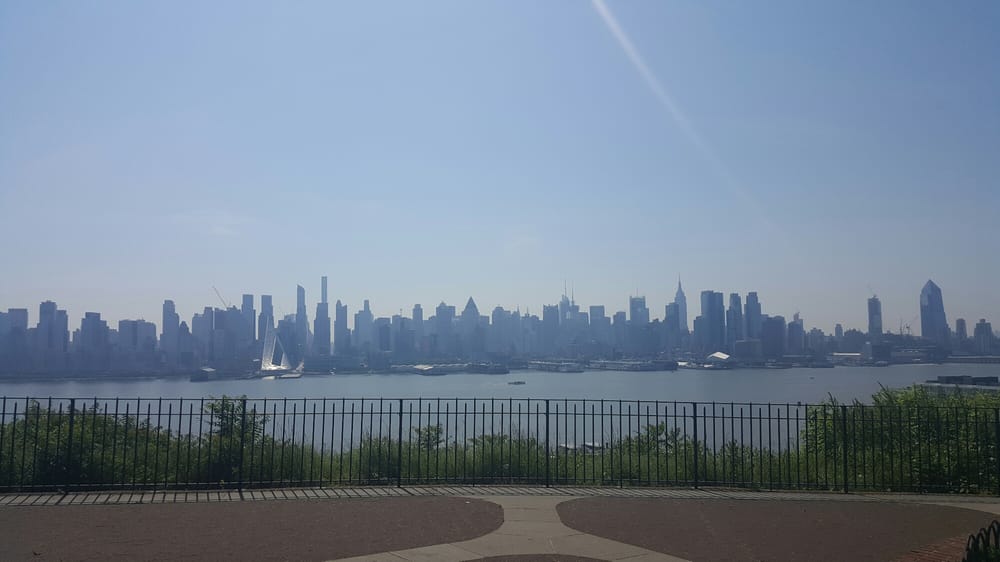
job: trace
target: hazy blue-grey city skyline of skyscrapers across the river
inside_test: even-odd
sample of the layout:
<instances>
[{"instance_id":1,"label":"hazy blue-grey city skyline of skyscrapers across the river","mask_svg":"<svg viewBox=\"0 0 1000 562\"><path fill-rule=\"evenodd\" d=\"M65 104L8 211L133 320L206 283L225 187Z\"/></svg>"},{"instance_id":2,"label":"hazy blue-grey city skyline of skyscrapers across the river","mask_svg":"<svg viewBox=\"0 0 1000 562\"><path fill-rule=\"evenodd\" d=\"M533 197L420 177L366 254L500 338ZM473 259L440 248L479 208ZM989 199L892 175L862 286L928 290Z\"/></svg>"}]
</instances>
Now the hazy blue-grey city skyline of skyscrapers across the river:
<instances>
[{"instance_id":1,"label":"hazy blue-grey city skyline of skyscrapers across the river","mask_svg":"<svg viewBox=\"0 0 1000 562\"><path fill-rule=\"evenodd\" d=\"M461 310L444 302L425 318L421 305L410 316L402 312L376 317L367 300L353 319L346 305L334 303L331 317L327 278L309 321L306 292L296 288L295 313L275 317L271 295L243 295L240 306L205 307L190 322L181 320L172 300L163 302L159 333L145 320L108 325L98 312L86 312L70 332L68 315L55 302L39 305L29 324L28 310L0 312L0 365L5 373L157 373L202 367L247 371L280 362L306 370L378 370L417 362L513 362L529 359L701 360L723 357L747 364L825 359L855 355L869 361L910 356L943 358L955 354L991 356L1000 347L992 325L979 320L970 337L959 318L951 330L941 289L928 281L920 293L920 337L901 325L886 331L882 304L868 299L867 332L833 334L807 329L798 313L790 320L764 314L756 292L743 298L702 291L699 314L688 319L681 287L662 318L651 319L645 297L628 299L628 309L608 314L603 305L582 309L565 294L541 316L494 308L482 314L470 297ZM259 307L259 308L257 308ZM275 350L280 351L275 351Z\"/></svg>"}]
</instances>

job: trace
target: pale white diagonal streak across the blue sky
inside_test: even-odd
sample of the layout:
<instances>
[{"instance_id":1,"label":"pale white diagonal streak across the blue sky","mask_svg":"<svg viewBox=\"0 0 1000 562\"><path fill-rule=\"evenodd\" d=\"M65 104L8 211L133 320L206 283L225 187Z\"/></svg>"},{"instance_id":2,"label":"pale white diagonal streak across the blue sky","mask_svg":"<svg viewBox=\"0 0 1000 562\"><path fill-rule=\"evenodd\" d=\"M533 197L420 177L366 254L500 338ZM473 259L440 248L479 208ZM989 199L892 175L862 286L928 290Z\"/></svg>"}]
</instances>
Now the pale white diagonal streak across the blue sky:
<instances>
[{"instance_id":1,"label":"pale white diagonal streak across the blue sky","mask_svg":"<svg viewBox=\"0 0 1000 562\"><path fill-rule=\"evenodd\" d=\"M591 0L591 3L594 6L594 10L597 11L597 15L601 17L604 25L607 26L608 31L610 31L611 35L613 35L615 40L618 41L618 45L621 46L622 51L625 52L625 56L628 57L629 62L631 62L632 66L634 66L636 71L639 72L639 76L642 78L643 82L646 83L646 86L649 87L650 91L653 92L656 100L660 102L660 105L667 110L670 117L677 123L677 126L680 127L681 132L687 136L691 144L693 144L698 152L701 153L702 157L708 161L715 173L717 173L726 183L726 186L736 192L736 194L746 203L755 207L758 211L758 216L768 223L769 226L775 227L774 223L772 223L764 215L763 209L760 205L757 204L746 189L744 189L739 182L733 178L732 174L729 173L725 164L723 164L722 160L716 156L715 151L712 150L711 145L709 145L701 134L698 133L698 130L691 124L691 120L684 115L684 112L681 111L681 108L677 105L677 102L674 101L674 98L671 97L671 95L667 92L667 89L663 87L663 84L660 83L656 75L653 74L653 71L649 69L649 66L646 65L646 61L643 60L638 49L636 49L635 45L632 44L632 40L629 38L628 34L625 33L625 30L623 30L621 25L618 24L618 20L615 19L614 14L612 14L611 10L608 9L604 0Z\"/></svg>"}]
</instances>

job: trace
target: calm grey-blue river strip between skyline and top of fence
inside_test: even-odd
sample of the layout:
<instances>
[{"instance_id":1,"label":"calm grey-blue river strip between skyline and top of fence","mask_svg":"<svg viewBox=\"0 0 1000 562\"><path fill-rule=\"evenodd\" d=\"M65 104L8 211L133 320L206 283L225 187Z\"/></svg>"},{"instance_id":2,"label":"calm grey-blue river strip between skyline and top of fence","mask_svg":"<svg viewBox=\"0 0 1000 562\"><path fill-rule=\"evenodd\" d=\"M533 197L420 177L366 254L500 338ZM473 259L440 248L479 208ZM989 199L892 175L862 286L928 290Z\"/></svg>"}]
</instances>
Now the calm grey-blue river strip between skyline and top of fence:
<instances>
[{"instance_id":1,"label":"calm grey-blue river strip between skyline and top of fence","mask_svg":"<svg viewBox=\"0 0 1000 562\"><path fill-rule=\"evenodd\" d=\"M335 375L287 380L190 382L187 378L0 382L0 396L65 398L587 398L697 402L870 402L880 386L938 375L1000 375L1000 365L893 365L834 369L738 369L627 373L513 371L507 375ZM510 385L510 381L524 381Z\"/></svg>"}]
</instances>

